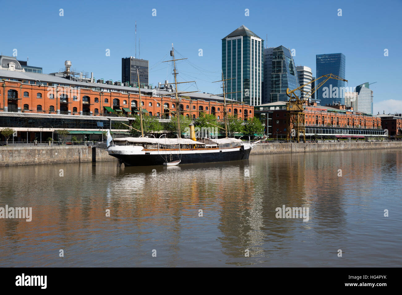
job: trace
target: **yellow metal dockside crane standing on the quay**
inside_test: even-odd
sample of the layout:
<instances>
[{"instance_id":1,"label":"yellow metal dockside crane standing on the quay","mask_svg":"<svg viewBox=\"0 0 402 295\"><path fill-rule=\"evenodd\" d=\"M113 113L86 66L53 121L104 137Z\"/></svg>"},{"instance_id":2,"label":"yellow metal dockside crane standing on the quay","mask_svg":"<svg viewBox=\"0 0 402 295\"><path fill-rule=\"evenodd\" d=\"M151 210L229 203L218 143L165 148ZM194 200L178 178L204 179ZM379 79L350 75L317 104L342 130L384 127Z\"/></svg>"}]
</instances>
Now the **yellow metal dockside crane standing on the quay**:
<instances>
[{"instance_id":1,"label":"yellow metal dockside crane standing on the quay","mask_svg":"<svg viewBox=\"0 0 402 295\"><path fill-rule=\"evenodd\" d=\"M322 80L318 85L316 85L314 88L312 88L310 91L305 91L303 88L304 86L313 83L314 81L317 81L318 79L325 78ZM303 113L303 106L306 104L307 100L310 100L310 97L312 96L313 93L315 93L318 88L320 88L326 81L329 79L336 79L336 80L341 80L347 82L348 80L345 80L341 77L338 77L334 74L328 74L328 75L323 75L315 80L312 80L311 82L301 85L297 87L296 89L290 90L289 88L286 89L286 94L289 96L289 101L286 103L286 110L289 111L287 115L287 128L286 128L286 133L287 133L287 139L292 137L292 129L294 129L294 135L293 137L297 138L297 142L299 142L300 139L300 133L303 133L303 141L306 141L306 123L305 123L305 114ZM297 96L296 92L297 90L300 90L301 92L306 93L303 98L299 98Z\"/></svg>"}]
</instances>

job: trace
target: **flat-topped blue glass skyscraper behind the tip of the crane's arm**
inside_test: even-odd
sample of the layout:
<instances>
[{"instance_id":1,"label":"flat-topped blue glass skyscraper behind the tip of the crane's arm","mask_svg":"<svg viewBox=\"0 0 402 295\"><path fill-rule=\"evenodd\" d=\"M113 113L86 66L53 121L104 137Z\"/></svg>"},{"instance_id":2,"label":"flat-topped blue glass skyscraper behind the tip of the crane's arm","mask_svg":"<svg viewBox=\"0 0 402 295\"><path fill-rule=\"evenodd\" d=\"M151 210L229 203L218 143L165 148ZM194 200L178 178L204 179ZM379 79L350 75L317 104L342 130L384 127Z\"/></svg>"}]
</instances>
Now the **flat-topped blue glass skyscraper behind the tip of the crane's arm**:
<instances>
[{"instance_id":1,"label":"flat-topped blue glass skyscraper behind the tip of the crane's arm","mask_svg":"<svg viewBox=\"0 0 402 295\"><path fill-rule=\"evenodd\" d=\"M345 79L345 55L342 53L330 53L316 55L316 77L334 74ZM316 81L319 84L324 78ZM317 100L321 105L340 102L345 104L345 81L328 79L316 92Z\"/></svg>"}]
</instances>

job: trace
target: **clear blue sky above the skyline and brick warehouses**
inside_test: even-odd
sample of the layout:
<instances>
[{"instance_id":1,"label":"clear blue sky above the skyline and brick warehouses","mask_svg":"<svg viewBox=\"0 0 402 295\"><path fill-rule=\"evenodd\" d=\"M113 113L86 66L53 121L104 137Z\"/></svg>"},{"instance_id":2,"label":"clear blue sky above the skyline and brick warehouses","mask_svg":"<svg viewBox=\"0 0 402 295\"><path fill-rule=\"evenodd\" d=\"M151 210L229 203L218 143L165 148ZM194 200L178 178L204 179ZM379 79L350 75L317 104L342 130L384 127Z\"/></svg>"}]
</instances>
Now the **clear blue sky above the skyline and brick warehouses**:
<instances>
[{"instance_id":1,"label":"clear blue sky above the skyline and brick warehouses","mask_svg":"<svg viewBox=\"0 0 402 295\"><path fill-rule=\"evenodd\" d=\"M12 55L17 49L18 59L29 57L44 73L58 71L69 59L96 79L121 80L121 58L135 55L137 21L137 57L149 60L150 83L172 81L168 63L160 61L170 59L174 43L189 58L178 62L179 80L197 80L180 90L221 93L218 83L210 83L221 75L221 39L244 24L264 40L268 34L265 46L295 49L295 64L311 67L314 75L316 54L345 54L346 86L377 82L371 86L375 114L402 112L400 0L7 1L2 10L0 51Z\"/></svg>"}]
</instances>

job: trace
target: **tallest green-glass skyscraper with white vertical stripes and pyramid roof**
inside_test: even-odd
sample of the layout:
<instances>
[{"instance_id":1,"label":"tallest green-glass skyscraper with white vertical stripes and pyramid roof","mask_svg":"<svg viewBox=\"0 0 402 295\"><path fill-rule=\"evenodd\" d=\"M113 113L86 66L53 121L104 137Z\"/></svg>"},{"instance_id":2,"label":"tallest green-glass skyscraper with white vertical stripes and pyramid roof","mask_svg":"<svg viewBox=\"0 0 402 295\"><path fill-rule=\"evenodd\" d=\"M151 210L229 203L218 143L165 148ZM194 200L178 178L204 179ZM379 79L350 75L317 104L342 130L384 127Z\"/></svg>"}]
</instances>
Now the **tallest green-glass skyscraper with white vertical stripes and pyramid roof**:
<instances>
[{"instance_id":1,"label":"tallest green-glass skyscraper with white vertical stripes and pyramid roof","mask_svg":"<svg viewBox=\"0 0 402 295\"><path fill-rule=\"evenodd\" d=\"M251 106L262 103L264 41L242 25L222 39L222 71L226 97Z\"/></svg>"}]
</instances>

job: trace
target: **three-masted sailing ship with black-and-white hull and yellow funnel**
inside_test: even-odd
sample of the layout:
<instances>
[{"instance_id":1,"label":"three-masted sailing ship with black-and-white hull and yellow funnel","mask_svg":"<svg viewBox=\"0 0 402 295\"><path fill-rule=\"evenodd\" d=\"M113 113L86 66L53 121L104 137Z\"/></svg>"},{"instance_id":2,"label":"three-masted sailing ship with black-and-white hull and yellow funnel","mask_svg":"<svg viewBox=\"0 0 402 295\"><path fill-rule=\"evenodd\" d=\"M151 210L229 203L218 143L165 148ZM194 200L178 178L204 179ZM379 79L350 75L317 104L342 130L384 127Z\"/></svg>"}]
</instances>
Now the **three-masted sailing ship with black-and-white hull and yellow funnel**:
<instances>
[{"instance_id":1,"label":"three-masted sailing ship with black-and-white hull and yellow funnel","mask_svg":"<svg viewBox=\"0 0 402 295\"><path fill-rule=\"evenodd\" d=\"M179 106L179 95L190 92L178 92L178 83L190 83L190 82L177 82L176 75L176 61L182 59L174 58L174 48L172 44L172 50L170 56L173 58L168 61L173 61L174 66L174 84L175 84L175 98L176 106ZM183 58L185 59L185 58ZM168 62L164 61L164 62ZM137 71L137 77L139 81L139 75ZM232 78L233 79L233 78ZM141 130L137 130L132 126L128 126L138 132L141 132L140 137L124 137L115 138L111 146L107 148L109 155L119 159L119 163L124 163L127 166L150 166L150 165L165 165L174 166L178 164L190 164L190 163L208 163L208 162L222 162L222 161L238 161L246 160L250 155L251 149L254 144L242 142L240 139L228 137L228 114L226 109L226 94L225 94L225 81L230 79L224 79L222 72L223 98L224 98L224 129L225 138L208 138L198 141L195 138L194 125L190 124L190 137L182 138L180 128L180 113L175 115L177 119L177 134L176 138L149 138L144 136L144 128L142 122L142 101L141 91L139 89L139 115ZM173 113L173 112L172 112ZM212 124L213 125L213 124ZM214 125L215 126L215 125Z\"/></svg>"}]
</instances>

